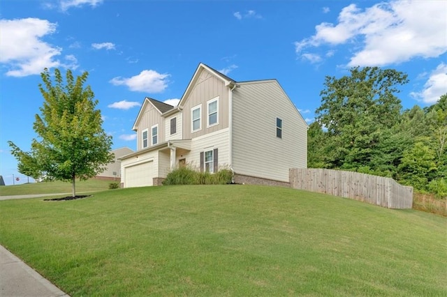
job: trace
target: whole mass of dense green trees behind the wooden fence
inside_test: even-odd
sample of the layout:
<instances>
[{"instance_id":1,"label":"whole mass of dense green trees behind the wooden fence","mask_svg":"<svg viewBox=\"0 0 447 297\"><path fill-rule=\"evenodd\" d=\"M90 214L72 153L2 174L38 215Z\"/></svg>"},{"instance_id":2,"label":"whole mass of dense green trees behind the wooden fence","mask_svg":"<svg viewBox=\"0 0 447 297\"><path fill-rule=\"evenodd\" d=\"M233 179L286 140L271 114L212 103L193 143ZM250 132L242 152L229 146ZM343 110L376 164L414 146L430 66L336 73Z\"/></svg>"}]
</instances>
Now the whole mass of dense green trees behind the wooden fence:
<instances>
[{"instance_id":1,"label":"whole mass of dense green trees behind the wooden fence","mask_svg":"<svg viewBox=\"0 0 447 297\"><path fill-rule=\"evenodd\" d=\"M403 73L377 67L326 77L309 126L308 167L387 176L445 197L447 94L402 111L397 86L406 82Z\"/></svg>"}]
</instances>

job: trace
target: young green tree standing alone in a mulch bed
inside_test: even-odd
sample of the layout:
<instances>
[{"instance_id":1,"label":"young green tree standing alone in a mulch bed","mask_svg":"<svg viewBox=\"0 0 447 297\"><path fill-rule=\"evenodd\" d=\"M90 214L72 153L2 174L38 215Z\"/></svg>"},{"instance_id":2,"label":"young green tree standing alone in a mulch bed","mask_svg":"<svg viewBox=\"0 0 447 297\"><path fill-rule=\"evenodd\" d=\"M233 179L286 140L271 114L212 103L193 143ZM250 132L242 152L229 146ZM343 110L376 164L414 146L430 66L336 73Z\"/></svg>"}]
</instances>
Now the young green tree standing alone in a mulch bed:
<instances>
[{"instance_id":1,"label":"young green tree standing alone in a mulch bed","mask_svg":"<svg viewBox=\"0 0 447 297\"><path fill-rule=\"evenodd\" d=\"M43 85L39 84L39 89L44 102L34 122L38 139L32 140L30 153L8 143L19 167L71 181L75 197L76 178L91 178L113 160L112 137L101 126L101 111L95 109L98 100L94 100L93 91L83 86L87 72L74 79L67 70L66 84L58 69L54 70L54 85L47 68L41 77Z\"/></svg>"}]
</instances>

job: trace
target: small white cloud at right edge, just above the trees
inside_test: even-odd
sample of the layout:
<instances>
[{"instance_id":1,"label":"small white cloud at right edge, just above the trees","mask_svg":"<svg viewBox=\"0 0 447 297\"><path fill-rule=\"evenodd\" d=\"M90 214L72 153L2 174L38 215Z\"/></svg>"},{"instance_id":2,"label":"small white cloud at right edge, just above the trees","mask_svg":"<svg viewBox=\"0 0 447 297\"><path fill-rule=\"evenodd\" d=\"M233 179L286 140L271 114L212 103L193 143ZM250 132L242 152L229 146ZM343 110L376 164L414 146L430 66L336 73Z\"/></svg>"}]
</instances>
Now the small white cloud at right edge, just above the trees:
<instances>
[{"instance_id":1,"label":"small white cloud at right edge, just above the trees","mask_svg":"<svg viewBox=\"0 0 447 297\"><path fill-rule=\"evenodd\" d=\"M447 64L441 63L430 73L424 89L420 92L412 92L411 96L416 100L434 104L445 93L447 93Z\"/></svg>"}]
</instances>

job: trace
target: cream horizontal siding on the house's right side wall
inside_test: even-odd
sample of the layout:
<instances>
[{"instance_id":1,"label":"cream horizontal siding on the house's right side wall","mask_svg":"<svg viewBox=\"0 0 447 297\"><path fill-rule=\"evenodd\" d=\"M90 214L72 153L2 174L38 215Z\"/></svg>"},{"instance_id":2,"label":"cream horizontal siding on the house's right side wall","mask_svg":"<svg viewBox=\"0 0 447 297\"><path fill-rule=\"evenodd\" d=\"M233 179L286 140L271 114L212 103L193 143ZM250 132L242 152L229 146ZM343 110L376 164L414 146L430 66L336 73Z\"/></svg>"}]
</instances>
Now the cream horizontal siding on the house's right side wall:
<instances>
[{"instance_id":1,"label":"cream horizontal siding on the house's right side wall","mask_svg":"<svg viewBox=\"0 0 447 297\"><path fill-rule=\"evenodd\" d=\"M288 182L290 168L307 167L307 123L276 80L240 83L232 106L236 174Z\"/></svg>"}]
</instances>

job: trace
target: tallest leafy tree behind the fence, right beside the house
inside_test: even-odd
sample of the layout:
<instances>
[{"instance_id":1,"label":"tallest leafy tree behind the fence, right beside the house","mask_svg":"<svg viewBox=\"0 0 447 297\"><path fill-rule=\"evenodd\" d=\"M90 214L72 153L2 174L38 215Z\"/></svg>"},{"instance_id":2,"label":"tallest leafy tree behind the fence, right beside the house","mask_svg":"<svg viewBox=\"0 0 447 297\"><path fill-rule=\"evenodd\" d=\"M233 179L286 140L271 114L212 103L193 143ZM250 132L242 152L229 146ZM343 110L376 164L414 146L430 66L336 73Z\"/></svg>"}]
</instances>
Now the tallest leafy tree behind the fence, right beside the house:
<instances>
[{"instance_id":1,"label":"tallest leafy tree behind the fence, right beside the house","mask_svg":"<svg viewBox=\"0 0 447 297\"><path fill-rule=\"evenodd\" d=\"M374 163L372 159L379 155L379 144L400 122L397 85L408 80L404 73L391 69L356 67L350 71L351 75L339 79L325 77L316 121L327 129L328 167L376 171L381 159Z\"/></svg>"}]
</instances>

